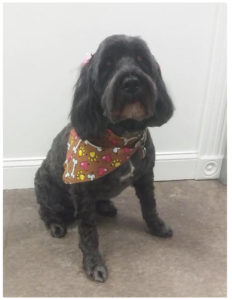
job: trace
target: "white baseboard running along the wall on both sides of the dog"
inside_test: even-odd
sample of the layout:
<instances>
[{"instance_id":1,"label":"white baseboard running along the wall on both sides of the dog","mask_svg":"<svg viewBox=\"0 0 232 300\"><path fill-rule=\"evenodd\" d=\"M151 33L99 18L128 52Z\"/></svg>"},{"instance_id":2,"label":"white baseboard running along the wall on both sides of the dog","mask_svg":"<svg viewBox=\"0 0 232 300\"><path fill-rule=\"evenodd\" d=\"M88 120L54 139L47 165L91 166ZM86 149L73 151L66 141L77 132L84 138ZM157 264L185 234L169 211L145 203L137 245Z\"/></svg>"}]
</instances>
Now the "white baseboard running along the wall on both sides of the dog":
<instances>
[{"instance_id":1,"label":"white baseboard running along the wall on both sides of the dog","mask_svg":"<svg viewBox=\"0 0 232 300\"><path fill-rule=\"evenodd\" d=\"M34 176L44 157L10 158L3 161L3 188L34 187ZM156 154L156 181L214 179L220 175L222 157L198 157L196 152Z\"/></svg>"}]
</instances>

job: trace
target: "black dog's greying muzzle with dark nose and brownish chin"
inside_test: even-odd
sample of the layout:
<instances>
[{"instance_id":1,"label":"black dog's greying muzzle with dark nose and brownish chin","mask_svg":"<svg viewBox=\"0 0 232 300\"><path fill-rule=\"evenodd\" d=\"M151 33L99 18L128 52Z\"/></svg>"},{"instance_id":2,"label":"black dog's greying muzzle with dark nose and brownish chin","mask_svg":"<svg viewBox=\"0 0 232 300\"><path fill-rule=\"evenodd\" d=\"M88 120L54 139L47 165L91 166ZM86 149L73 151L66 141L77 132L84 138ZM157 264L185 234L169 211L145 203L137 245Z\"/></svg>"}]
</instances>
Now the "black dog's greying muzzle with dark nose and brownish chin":
<instances>
[{"instance_id":1,"label":"black dog's greying muzzle with dark nose and brownish chin","mask_svg":"<svg viewBox=\"0 0 232 300\"><path fill-rule=\"evenodd\" d=\"M105 115L114 123L142 121L154 114L156 86L143 72L127 72L112 78L104 93Z\"/></svg>"}]
</instances>

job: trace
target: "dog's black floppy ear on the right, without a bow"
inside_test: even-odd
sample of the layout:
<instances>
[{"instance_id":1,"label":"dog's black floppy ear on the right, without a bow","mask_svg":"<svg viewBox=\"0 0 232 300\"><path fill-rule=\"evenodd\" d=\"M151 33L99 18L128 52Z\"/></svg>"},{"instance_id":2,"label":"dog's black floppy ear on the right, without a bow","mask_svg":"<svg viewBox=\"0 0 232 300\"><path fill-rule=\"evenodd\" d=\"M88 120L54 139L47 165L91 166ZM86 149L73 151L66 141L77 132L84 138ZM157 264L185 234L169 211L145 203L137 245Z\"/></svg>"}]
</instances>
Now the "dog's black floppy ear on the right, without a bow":
<instances>
[{"instance_id":1,"label":"dog's black floppy ear on the right, without a bow","mask_svg":"<svg viewBox=\"0 0 232 300\"><path fill-rule=\"evenodd\" d=\"M149 120L148 126L161 126L166 123L174 112L174 105L168 95L165 83L162 78L160 66L153 56L153 78L157 86L158 99L155 107L155 114Z\"/></svg>"}]
</instances>

